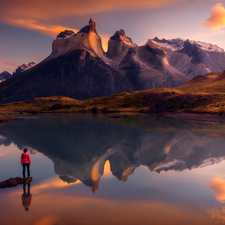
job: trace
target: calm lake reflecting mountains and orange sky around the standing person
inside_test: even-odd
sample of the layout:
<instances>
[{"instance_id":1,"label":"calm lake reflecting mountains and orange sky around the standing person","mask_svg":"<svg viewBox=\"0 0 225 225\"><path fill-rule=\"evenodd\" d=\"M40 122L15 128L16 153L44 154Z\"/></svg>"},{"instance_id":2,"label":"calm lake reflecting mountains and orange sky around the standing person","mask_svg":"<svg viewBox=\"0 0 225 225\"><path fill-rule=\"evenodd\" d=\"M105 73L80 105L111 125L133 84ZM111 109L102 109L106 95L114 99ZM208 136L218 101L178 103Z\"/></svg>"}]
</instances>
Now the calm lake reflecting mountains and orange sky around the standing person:
<instances>
[{"instance_id":1,"label":"calm lake reflecting mountains and orange sky around the standing person","mask_svg":"<svg viewBox=\"0 0 225 225\"><path fill-rule=\"evenodd\" d=\"M116 117L116 118L110 118ZM0 224L223 224L225 124L152 115L43 115L0 124ZM28 185L25 186L26 191Z\"/></svg>"}]
</instances>

